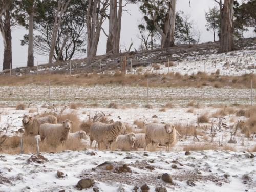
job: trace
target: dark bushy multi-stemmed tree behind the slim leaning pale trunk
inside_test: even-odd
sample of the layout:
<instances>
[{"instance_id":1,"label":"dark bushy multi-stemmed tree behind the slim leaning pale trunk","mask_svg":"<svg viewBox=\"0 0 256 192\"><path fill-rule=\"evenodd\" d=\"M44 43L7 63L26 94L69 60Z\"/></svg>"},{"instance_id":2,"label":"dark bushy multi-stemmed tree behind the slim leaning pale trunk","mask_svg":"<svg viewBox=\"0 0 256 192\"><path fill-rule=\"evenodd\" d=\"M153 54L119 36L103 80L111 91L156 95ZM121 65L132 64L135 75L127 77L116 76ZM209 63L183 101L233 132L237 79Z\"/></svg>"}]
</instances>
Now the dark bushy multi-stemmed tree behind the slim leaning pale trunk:
<instances>
[{"instance_id":1,"label":"dark bushy multi-stemmed tree behind the slim leaning pale trunk","mask_svg":"<svg viewBox=\"0 0 256 192\"><path fill-rule=\"evenodd\" d=\"M42 8L38 7L34 17L34 27L37 31L34 37L34 49L37 54L49 55L57 3L51 0L42 3ZM87 1L70 1L57 32L53 55L56 61L70 60L76 55L85 53L86 8ZM39 11L42 12L39 14ZM24 44L28 44L28 35L22 40L22 45Z\"/></svg>"}]
</instances>

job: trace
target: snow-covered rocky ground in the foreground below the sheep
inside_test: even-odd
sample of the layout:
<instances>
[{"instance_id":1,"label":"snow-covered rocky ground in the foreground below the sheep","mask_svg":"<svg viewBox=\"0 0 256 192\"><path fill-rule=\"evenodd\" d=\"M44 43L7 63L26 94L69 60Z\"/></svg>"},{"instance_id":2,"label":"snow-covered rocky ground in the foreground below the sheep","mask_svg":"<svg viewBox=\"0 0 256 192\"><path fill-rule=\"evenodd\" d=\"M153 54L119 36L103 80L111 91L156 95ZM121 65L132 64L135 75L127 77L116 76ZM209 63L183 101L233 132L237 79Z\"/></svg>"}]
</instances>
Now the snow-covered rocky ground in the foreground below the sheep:
<instances>
[{"instance_id":1,"label":"snow-covered rocky ground in the foreground below the sheep","mask_svg":"<svg viewBox=\"0 0 256 192\"><path fill-rule=\"evenodd\" d=\"M254 153L255 154L255 153ZM82 178L94 178L86 191L133 191L147 184L150 191L166 187L167 191L255 191L255 159L247 152L193 151L185 152L117 152L65 151L42 155L49 160L42 164L27 163L32 154L0 156L0 191L77 191ZM145 156L147 155L147 156ZM129 172L97 167L108 161ZM115 163L114 163L115 162ZM117 165L116 165L117 164ZM176 165L176 168L172 168ZM173 166L175 167L175 166ZM92 170L92 168L95 168ZM65 174L58 178L57 170ZM164 182L162 174L172 176L173 184ZM159 179L158 179L159 178ZM194 186L189 186L190 185Z\"/></svg>"}]
</instances>

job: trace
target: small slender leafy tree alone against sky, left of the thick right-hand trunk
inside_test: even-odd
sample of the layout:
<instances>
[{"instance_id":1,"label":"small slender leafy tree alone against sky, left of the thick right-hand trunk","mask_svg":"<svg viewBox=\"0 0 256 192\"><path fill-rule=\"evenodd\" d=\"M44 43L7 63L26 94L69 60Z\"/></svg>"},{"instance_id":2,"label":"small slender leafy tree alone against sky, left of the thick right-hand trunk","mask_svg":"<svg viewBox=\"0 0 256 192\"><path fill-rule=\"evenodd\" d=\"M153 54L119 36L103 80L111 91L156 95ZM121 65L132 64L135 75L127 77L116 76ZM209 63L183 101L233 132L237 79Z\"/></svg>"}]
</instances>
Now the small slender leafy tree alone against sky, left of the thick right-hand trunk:
<instances>
[{"instance_id":1,"label":"small slender leafy tree alone against sky, left of the thick right-hand trunk","mask_svg":"<svg viewBox=\"0 0 256 192\"><path fill-rule=\"evenodd\" d=\"M209 9L208 12L205 12L205 19L206 19L206 30L212 31L214 33L214 42L215 42L215 34L216 31L220 27L220 11L217 9L217 7L213 7L212 9Z\"/></svg>"}]
</instances>

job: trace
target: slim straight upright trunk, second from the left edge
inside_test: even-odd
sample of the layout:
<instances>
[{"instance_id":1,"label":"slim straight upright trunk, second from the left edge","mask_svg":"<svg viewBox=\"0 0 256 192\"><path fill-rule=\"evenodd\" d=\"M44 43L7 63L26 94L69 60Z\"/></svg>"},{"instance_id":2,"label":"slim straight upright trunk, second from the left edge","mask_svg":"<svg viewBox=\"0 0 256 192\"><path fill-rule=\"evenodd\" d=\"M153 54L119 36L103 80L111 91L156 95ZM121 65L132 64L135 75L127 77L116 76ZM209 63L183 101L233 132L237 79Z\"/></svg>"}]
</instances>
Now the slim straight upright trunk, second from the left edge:
<instances>
[{"instance_id":1,"label":"slim straight upright trunk, second from the left edge","mask_svg":"<svg viewBox=\"0 0 256 192\"><path fill-rule=\"evenodd\" d=\"M33 7L32 7L33 9ZM29 14L29 47L28 47L28 61L27 66L33 67L34 66L34 12L33 10Z\"/></svg>"}]
</instances>

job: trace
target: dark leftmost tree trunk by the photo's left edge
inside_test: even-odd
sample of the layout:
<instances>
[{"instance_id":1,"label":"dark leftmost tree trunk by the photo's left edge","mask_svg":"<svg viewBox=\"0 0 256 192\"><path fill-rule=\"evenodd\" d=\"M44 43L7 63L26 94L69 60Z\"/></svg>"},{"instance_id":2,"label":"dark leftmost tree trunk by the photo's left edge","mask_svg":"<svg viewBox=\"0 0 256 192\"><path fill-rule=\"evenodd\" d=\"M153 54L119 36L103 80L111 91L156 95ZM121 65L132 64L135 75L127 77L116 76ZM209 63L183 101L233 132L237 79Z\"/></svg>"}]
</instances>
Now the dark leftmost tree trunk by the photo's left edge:
<instances>
[{"instance_id":1,"label":"dark leftmost tree trunk by the photo's left edge","mask_svg":"<svg viewBox=\"0 0 256 192\"><path fill-rule=\"evenodd\" d=\"M11 35L11 24L10 24L10 11L9 9L5 10L5 22L4 33L2 36L4 38L4 61L3 61L3 70L12 69L12 35Z\"/></svg>"}]
</instances>

